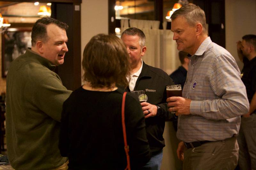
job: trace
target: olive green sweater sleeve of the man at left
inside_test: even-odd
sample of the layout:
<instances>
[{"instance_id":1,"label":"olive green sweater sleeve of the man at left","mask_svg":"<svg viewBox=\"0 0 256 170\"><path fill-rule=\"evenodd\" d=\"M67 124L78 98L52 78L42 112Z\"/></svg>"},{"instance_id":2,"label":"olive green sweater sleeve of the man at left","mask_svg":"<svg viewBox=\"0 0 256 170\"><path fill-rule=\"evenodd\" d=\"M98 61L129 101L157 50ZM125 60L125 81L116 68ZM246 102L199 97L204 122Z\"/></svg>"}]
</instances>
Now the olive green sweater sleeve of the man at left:
<instances>
[{"instance_id":1,"label":"olive green sweater sleeve of the man at left","mask_svg":"<svg viewBox=\"0 0 256 170\"><path fill-rule=\"evenodd\" d=\"M59 76L51 70L44 71L44 74L39 73L36 72L28 78L27 88L31 89L30 101L39 110L60 122L63 102L72 91L67 90Z\"/></svg>"}]
</instances>

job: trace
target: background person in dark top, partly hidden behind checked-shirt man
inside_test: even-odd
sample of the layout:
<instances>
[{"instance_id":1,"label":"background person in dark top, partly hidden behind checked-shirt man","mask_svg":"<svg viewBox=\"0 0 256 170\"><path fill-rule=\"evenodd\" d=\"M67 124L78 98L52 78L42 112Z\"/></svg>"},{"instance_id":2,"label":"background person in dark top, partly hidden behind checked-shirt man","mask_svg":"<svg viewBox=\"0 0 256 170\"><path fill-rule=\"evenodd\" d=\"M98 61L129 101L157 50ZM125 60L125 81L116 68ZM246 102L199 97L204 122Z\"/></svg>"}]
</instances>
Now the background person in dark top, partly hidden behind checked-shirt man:
<instances>
[{"instance_id":1,"label":"background person in dark top, partly hidden behind checked-shirt man","mask_svg":"<svg viewBox=\"0 0 256 170\"><path fill-rule=\"evenodd\" d=\"M170 78L172 78L175 85L181 85L181 88L183 89L187 78L188 63L190 61L188 58L188 53L179 51L179 59L181 66L170 74Z\"/></svg>"}]
</instances>

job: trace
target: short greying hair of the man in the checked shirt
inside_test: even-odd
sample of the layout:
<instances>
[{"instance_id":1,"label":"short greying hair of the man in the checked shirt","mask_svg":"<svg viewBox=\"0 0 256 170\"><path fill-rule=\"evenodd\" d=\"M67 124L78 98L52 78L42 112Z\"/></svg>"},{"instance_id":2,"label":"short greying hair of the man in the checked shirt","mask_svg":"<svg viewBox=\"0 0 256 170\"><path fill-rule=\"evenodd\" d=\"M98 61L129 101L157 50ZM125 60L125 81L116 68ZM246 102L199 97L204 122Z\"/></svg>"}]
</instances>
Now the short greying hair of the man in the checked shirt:
<instances>
[{"instance_id":1,"label":"short greying hair of the man in the checked shirt","mask_svg":"<svg viewBox=\"0 0 256 170\"><path fill-rule=\"evenodd\" d=\"M199 6L196 6L195 4L182 6L180 9L173 12L171 20L174 20L177 17L186 18L190 26L195 26L196 23L201 23L203 26L203 32L208 35L205 13Z\"/></svg>"}]
</instances>

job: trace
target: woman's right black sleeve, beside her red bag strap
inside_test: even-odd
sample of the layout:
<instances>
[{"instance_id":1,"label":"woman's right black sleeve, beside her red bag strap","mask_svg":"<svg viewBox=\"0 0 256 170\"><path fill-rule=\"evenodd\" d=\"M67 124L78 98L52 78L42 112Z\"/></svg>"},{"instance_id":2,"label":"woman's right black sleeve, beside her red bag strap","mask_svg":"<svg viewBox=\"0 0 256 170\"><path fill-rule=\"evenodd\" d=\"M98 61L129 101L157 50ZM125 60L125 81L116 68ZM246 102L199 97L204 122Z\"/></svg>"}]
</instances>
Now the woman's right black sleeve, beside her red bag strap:
<instances>
[{"instance_id":1,"label":"woman's right black sleeve, beside her red bag strap","mask_svg":"<svg viewBox=\"0 0 256 170\"><path fill-rule=\"evenodd\" d=\"M127 143L130 150L131 167L138 169L149 161L151 155L140 103L130 94L126 95L125 122L127 124Z\"/></svg>"}]
</instances>

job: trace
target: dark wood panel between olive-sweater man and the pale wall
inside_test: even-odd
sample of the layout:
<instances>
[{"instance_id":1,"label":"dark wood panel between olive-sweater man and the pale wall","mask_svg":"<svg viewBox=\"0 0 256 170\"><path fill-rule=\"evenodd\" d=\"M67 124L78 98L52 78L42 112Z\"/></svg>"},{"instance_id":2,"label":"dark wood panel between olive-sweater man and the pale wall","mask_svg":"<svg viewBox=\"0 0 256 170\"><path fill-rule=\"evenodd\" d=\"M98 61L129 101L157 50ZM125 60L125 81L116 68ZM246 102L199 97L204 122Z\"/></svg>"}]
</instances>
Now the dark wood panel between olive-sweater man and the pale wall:
<instances>
[{"instance_id":1,"label":"dark wood panel between olive-sweater man and the pale wall","mask_svg":"<svg viewBox=\"0 0 256 170\"><path fill-rule=\"evenodd\" d=\"M75 90L81 86L81 11L75 10L72 3L54 3L56 16L54 18L68 24L68 52L64 64L57 67L56 72L67 89ZM76 6L76 7L78 7Z\"/></svg>"}]
</instances>

